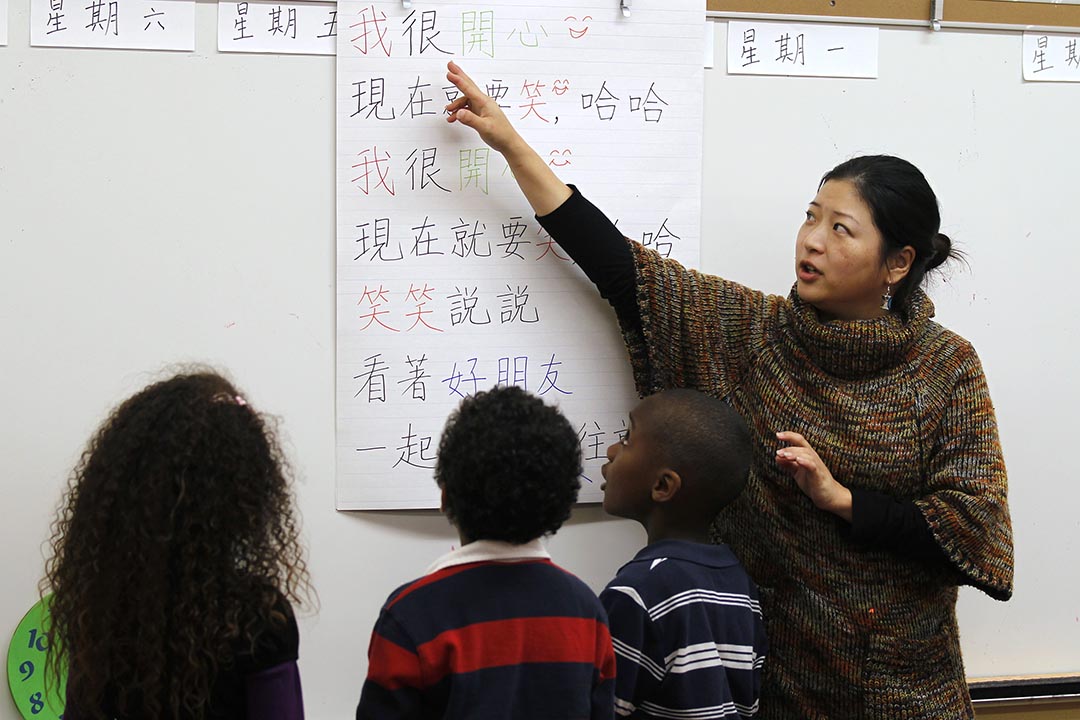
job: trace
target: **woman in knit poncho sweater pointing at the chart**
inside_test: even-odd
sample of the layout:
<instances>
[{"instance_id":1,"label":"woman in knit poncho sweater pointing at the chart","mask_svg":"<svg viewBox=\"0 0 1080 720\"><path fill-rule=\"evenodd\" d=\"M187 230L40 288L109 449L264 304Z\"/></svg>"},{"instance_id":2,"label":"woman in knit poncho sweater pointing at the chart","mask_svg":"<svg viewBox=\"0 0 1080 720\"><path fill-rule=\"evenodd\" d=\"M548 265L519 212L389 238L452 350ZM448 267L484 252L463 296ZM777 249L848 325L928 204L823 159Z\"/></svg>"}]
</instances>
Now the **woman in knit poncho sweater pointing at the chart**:
<instances>
[{"instance_id":1,"label":"woman in knit poncho sweater pointing at the chart","mask_svg":"<svg viewBox=\"0 0 1080 720\"><path fill-rule=\"evenodd\" d=\"M795 285L766 295L623 237L448 69L461 92L448 121L505 158L615 308L638 392L696 388L751 427L750 481L714 533L760 589L758 717L974 717L957 589L1012 595L1012 528L978 356L931 320L920 289L956 255L922 174L886 155L826 173L796 237Z\"/></svg>"}]
</instances>

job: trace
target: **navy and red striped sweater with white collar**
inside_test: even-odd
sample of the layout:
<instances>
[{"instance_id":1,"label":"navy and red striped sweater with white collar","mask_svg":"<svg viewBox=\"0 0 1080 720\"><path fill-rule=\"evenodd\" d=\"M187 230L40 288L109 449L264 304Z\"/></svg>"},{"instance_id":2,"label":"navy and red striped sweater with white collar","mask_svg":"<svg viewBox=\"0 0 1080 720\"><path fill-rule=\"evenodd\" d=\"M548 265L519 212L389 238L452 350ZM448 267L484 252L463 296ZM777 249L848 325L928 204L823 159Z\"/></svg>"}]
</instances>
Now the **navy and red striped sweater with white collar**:
<instances>
[{"instance_id":1,"label":"navy and red striped sweater with white collar","mask_svg":"<svg viewBox=\"0 0 1080 720\"><path fill-rule=\"evenodd\" d=\"M604 608L539 541L470 543L394 590L367 660L357 720L613 712Z\"/></svg>"}]
</instances>

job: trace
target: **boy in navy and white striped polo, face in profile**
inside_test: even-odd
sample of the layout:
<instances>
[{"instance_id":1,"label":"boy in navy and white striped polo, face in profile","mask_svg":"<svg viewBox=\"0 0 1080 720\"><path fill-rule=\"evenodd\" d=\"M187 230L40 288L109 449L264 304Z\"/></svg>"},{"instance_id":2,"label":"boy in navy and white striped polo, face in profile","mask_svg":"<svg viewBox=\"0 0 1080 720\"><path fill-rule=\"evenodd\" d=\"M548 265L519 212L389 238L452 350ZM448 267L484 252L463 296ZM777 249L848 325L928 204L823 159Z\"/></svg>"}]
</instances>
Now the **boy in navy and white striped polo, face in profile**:
<instances>
[{"instance_id":1,"label":"boy in navy and white striped polo, face in profile","mask_svg":"<svg viewBox=\"0 0 1080 720\"><path fill-rule=\"evenodd\" d=\"M756 715L767 650L757 588L726 545L710 543L713 518L746 484L751 452L742 418L696 390L646 397L608 448L604 510L640 522L649 543L600 594L618 715Z\"/></svg>"}]
</instances>

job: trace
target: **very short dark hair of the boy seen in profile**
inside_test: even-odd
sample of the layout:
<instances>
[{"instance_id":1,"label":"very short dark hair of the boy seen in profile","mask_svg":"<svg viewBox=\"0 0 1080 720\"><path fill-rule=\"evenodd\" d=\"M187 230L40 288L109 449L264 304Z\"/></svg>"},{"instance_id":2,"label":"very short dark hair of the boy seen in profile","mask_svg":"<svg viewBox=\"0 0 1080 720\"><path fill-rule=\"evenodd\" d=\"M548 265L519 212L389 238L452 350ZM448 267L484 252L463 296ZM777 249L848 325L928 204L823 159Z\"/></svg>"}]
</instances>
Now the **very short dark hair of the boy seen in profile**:
<instances>
[{"instance_id":1,"label":"very short dark hair of the boy seen in profile","mask_svg":"<svg viewBox=\"0 0 1080 720\"><path fill-rule=\"evenodd\" d=\"M692 485L712 517L739 497L750 476L753 446L746 422L730 405L679 388L653 396L649 434L665 464Z\"/></svg>"}]
</instances>

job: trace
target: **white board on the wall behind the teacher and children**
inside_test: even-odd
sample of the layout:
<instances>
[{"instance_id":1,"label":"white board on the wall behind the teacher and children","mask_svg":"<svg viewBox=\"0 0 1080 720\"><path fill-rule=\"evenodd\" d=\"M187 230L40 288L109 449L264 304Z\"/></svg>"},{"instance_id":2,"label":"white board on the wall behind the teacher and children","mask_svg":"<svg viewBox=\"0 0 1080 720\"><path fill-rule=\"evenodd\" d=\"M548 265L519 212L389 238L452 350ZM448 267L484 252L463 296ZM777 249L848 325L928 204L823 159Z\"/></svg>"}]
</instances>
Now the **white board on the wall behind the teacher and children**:
<instances>
[{"instance_id":1,"label":"white board on the wall behind the teacher and children","mask_svg":"<svg viewBox=\"0 0 1080 720\"><path fill-rule=\"evenodd\" d=\"M190 54L30 49L27 16L13 0L0 49L0 635L36 599L90 433L166 365L210 362L282 420L321 599L300 620L308 717L350 717L381 602L457 538L431 512L334 511L334 58L218 54L206 2ZM968 671L1080 671L1080 95L1024 84L1018 35L880 42L876 81L705 72L702 268L786 293L824 171L889 151L926 172L971 256L931 295L986 366L1016 536L1014 599L961 592ZM599 589L643 542L589 506L551 549Z\"/></svg>"}]
</instances>

